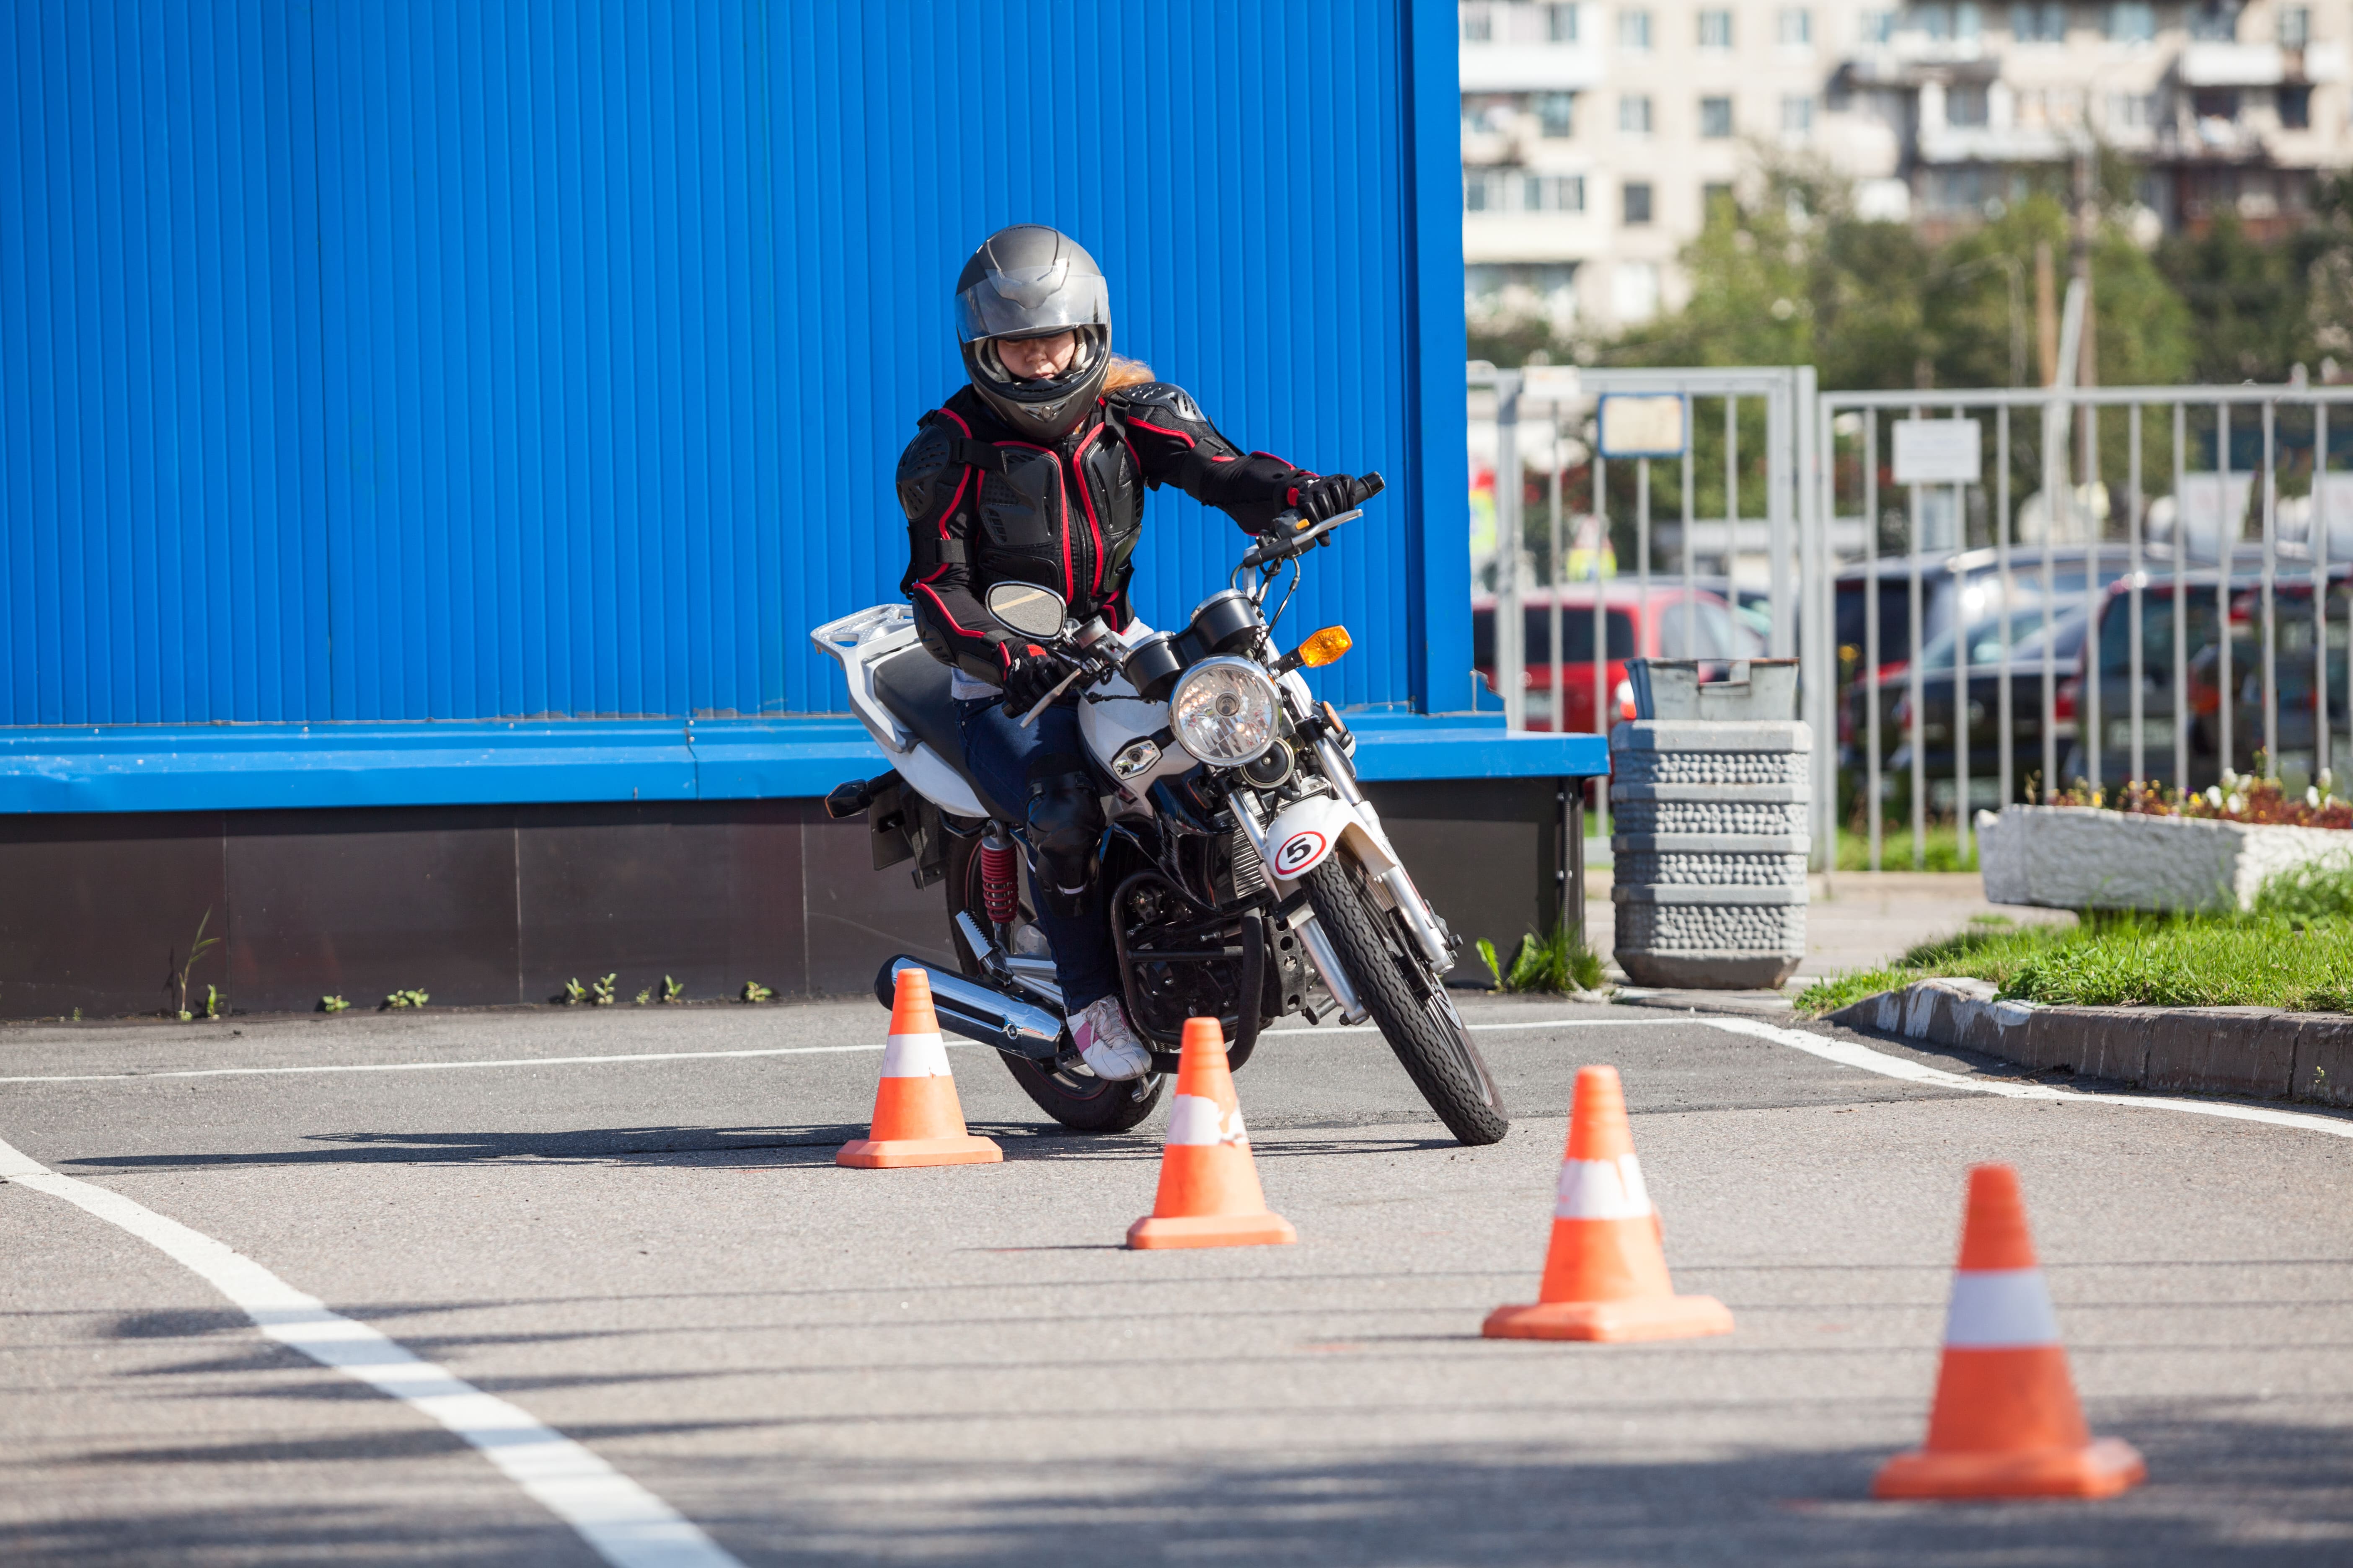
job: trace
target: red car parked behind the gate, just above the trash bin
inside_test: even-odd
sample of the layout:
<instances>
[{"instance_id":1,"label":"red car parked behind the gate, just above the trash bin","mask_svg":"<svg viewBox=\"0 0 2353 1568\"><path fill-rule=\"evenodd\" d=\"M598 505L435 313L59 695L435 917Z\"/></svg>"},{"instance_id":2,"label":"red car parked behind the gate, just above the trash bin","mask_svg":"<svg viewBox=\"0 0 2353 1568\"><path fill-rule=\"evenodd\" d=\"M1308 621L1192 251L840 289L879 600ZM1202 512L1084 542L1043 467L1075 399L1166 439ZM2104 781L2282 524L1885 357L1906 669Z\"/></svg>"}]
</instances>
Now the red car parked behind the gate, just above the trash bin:
<instances>
[{"instance_id":1,"label":"red car parked behind the gate, just above the trash bin","mask_svg":"<svg viewBox=\"0 0 2353 1568\"><path fill-rule=\"evenodd\" d=\"M1555 729L1553 724L1553 592L1529 588L1520 595L1527 625L1522 646L1527 649L1527 726ZM1565 705L1560 717L1579 733L1605 733L1607 724L1593 722L1593 585L1577 583L1560 588L1560 679ZM1732 614L1722 595L1692 590L1680 583L1652 578L1645 597L1638 583L1624 578L1602 583L1602 689L1609 719L1633 717L1633 686L1626 682L1628 658L1704 658L1729 665L1734 658L1765 658L1765 642ZM1471 661L1489 693L1494 684L1494 595L1471 599ZM1727 668L1701 670L1701 679L1722 679Z\"/></svg>"}]
</instances>

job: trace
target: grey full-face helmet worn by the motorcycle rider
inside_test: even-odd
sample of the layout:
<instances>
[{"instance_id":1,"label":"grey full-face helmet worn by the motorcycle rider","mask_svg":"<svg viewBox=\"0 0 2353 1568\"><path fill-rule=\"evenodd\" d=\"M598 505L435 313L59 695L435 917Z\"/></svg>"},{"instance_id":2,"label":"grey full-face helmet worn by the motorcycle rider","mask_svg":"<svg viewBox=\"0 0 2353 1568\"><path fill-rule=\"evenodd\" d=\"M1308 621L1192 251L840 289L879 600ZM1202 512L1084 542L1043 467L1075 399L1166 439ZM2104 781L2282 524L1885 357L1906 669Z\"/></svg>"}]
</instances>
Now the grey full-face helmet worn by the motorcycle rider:
<instances>
[{"instance_id":1,"label":"grey full-face helmet worn by the motorcycle rider","mask_svg":"<svg viewBox=\"0 0 2353 1568\"><path fill-rule=\"evenodd\" d=\"M1002 339L1078 334L1071 369L1016 381L998 357ZM955 336L965 374L998 418L1031 440L1054 442L1075 425L1111 369L1111 284L1078 240L1042 223L1000 228L972 252L955 280Z\"/></svg>"}]
</instances>

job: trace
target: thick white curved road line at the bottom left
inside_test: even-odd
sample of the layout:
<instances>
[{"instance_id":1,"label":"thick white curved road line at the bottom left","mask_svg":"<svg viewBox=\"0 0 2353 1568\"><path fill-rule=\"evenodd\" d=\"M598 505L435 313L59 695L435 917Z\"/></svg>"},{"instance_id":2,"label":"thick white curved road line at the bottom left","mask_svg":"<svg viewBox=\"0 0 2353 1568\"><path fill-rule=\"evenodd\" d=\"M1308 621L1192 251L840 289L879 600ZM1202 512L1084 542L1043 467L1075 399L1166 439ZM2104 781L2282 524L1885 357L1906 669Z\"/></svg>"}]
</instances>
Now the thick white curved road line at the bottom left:
<instances>
[{"instance_id":1,"label":"thick white curved road line at the bottom left","mask_svg":"<svg viewBox=\"0 0 2353 1568\"><path fill-rule=\"evenodd\" d=\"M744 1568L685 1514L529 1413L421 1361L358 1319L329 1312L252 1258L134 1204L59 1175L0 1143L0 1180L118 1225L226 1295L264 1335L433 1418L466 1439L614 1568Z\"/></svg>"}]
</instances>

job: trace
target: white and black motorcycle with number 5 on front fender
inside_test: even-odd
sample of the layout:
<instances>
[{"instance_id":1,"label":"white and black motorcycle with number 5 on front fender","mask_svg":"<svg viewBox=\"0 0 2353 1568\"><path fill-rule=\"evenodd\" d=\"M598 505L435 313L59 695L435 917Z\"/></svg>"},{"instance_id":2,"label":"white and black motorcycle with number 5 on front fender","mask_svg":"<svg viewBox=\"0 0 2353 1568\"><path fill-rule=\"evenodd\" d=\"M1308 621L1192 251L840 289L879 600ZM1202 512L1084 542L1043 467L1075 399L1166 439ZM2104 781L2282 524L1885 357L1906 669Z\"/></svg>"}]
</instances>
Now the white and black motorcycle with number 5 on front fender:
<instances>
[{"instance_id":1,"label":"white and black motorcycle with number 5 on front fender","mask_svg":"<svg viewBox=\"0 0 2353 1568\"><path fill-rule=\"evenodd\" d=\"M1365 498L1379 494L1381 477L1365 487ZM1078 623L1061 595L1035 583L986 592L1000 628L1075 665L1021 722L1078 689L1080 736L1106 797L1101 877L1122 999L1153 1048L1141 1079L1094 1077L1071 1041L1021 877L1024 802L986 799L965 773L948 668L918 642L913 611L878 604L809 632L840 661L852 710L892 759L887 773L835 788L826 813L866 818L875 870L913 860L918 886L946 884L960 973L932 971L939 1023L995 1046L1031 1100L1068 1128L1144 1121L1195 1016L1224 1025L1233 1067L1278 1018L1369 1018L1459 1140L1497 1143L1511 1126L1445 987L1461 938L1419 893L1365 799L1355 736L1299 675L1346 654L1348 632L1332 625L1275 649L1301 555L1355 517L1362 505L1320 524L1285 512L1179 632ZM918 959L899 954L875 976L885 1006L911 966Z\"/></svg>"}]
</instances>

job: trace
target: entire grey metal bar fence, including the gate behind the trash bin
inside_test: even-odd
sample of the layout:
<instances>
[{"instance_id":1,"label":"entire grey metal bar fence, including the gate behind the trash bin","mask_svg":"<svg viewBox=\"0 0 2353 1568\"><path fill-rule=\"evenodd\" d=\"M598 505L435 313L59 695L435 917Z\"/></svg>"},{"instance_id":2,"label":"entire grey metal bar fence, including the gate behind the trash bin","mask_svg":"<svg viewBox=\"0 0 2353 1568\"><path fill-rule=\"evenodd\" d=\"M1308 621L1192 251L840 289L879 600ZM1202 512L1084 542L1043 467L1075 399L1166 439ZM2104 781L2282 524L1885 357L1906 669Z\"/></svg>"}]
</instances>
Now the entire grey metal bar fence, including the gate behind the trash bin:
<instances>
[{"instance_id":1,"label":"entire grey metal bar fence, including the gate behind the trash bin","mask_svg":"<svg viewBox=\"0 0 2353 1568\"><path fill-rule=\"evenodd\" d=\"M2071 301L2064 364L2080 329ZM1817 870L1847 832L1873 870L1969 865L1974 809L2224 773L2301 790L2353 748L2353 386L1473 364L1468 388L1473 470L1497 475L1480 693L1515 729L1607 731L1621 654L1795 654ZM1607 451L1621 393L1685 400L1675 456ZM1737 646L1708 642L1711 607Z\"/></svg>"}]
</instances>

